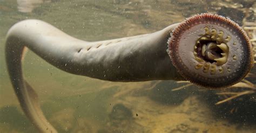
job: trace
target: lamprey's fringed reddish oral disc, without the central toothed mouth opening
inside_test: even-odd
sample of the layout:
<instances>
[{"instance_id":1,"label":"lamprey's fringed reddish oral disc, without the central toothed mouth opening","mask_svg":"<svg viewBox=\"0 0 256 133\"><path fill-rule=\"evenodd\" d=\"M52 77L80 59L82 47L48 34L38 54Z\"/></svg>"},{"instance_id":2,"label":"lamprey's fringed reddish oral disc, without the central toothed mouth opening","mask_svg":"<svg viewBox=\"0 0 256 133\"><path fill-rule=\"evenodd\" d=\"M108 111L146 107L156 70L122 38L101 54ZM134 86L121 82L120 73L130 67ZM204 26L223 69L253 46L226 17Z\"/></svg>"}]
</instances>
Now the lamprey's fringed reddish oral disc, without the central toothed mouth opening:
<instances>
[{"instance_id":1,"label":"lamprey's fringed reddish oral disc, without the central toothed mouth opening","mask_svg":"<svg viewBox=\"0 0 256 133\"><path fill-rule=\"evenodd\" d=\"M225 39L229 40L227 35L231 36L227 43L224 42L229 47L228 53L230 54L228 55L231 56L227 57L226 63L214 68L217 71L212 75L210 72L204 73L203 67L198 70L194 68L198 62L194 58L193 48L196 41L205 35L205 27L215 28L217 34L223 31L224 41L226 41ZM206 37L209 38L211 35L206 35ZM216 35L216 39L217 37ZM233 45L234 42L237 44ZM199 48L197 50L200 51ZM171 34L168 51L174 67L177 68L181 76L192 83L211 88L227 87L240 82L251 70L253 64L252 45L245 31L232 20L217 14L202 13L180 23ZM232 59L232 55L237 56L236 61ZM218 71L221 68L223 73ZM214 70L210 69L214 73Z\"/></svg>"}]
</instances>

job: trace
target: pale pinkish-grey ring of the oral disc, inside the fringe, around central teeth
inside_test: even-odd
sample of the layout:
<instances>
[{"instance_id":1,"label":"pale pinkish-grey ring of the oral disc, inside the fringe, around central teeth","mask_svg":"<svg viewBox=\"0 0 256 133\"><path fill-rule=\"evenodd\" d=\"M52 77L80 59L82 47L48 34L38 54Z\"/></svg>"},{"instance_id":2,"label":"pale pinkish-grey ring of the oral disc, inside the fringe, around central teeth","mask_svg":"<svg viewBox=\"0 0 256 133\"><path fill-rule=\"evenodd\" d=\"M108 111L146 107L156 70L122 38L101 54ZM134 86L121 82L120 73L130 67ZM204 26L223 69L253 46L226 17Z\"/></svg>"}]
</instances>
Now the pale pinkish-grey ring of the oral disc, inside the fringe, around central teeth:
<instances>
[{"instance_id":1,"label":"pale pinkish-grey ring of the oral disc, inside the fringe, around central teeth","mask_svg":"<svg viewBox=\"0 0 256 133\"><path fill-rule=\"evenodd\" d=\"M229 41L226 43L228 46L228 53L232 55L237 56L236 62L234 62L232 56L227 57L227 62L217 66L216 68L214 67L214 70L212 72L204 67L200 67L198 69L195 69L195 66L198 65L198 59L196 60L194 57L194 46L197 42L197 40L200 38L200 35L204 35L208 29L205 30L205 27L207 27L210 31L209 34L211 34L211 29L214 28L216 29L217 32L217 37L220 36L222 38L221 41L225 41L225 39L228 39ZM207 31L208 33L208 31ZM198 76L204 77L204 78L218 78L218 77L225 77L225 76L230 76L232 73L232 70L238 70L238 67L240 63L242 62L241 60L241 53L242 50L244 50L243 47L239 45L240 40L235 38L233 35L234 33L227 31L226 28L223 28L218 25L212 25L212 24L198 24L190 28L190 30L187 30L184 32L184 34L181 36L180 43L183 45L179 45L178 47L178 53L181 58L181 61L183 62L184 65L186 65L188 71L197 71ZM228 36L229 35L229 36ZM233 37L232 37L233 36ZM237 45L233 45L234 42L237 42ZM221 68L220 68L221 67ZM227 67L231 70L231 72L227 72ZM221 69L222 71L219 71ZM214 73L214 74L213 74Z\"/></svg>"}]
</instances>

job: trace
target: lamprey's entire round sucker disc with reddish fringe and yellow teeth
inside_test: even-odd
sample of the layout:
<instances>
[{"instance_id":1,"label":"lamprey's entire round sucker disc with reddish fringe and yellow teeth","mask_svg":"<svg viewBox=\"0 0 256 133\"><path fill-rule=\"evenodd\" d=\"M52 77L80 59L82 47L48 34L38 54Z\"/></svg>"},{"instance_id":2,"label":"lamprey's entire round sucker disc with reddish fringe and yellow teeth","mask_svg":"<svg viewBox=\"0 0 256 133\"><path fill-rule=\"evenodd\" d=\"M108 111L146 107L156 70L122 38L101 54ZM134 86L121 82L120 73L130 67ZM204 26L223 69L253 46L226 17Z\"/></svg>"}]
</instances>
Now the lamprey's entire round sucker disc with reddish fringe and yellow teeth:
<instances>
[{"instance_id":1,"label":"lamprey's entire round sucker disc with reddish fringe and yellow teeth","mask_svg":"<svg viewBox=\"0 0 256 133\"><path fill-rule=\"evenodd\" d=\"M168 44L180 75L204 87L234 85L253 65L252 45L244 30L217 14L186 19L173 30Z\"/></svg>"}]
</instances>

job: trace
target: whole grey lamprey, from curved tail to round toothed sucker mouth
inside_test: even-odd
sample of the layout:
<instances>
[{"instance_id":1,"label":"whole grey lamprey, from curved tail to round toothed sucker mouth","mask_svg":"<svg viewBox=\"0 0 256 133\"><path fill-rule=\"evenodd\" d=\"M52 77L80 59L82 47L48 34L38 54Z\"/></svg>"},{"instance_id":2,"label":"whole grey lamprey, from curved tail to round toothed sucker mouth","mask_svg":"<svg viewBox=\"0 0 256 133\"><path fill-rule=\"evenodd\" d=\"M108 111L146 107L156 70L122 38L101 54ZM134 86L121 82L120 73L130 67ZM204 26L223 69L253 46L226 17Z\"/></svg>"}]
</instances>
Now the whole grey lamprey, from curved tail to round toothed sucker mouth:
<instances>
[{"instance_id":1,"label":"whole grey lamprey, from curved tail to round toothed sucker mouth","mask_svg":"<svg viewBox=\"0 0 256 133\"><path fill-rule=\"evenodd\" d=\"M244 78L253 58L248 37L239 33L242 29L227 26L226 18L221 20L206 13L151 34L97 42L73 38L41 20L24 20L12 26L6 35L6 64L26 116L40 132L57 132L44 117L36 92L23 77L25 47L56 68L75 75L112 82L190 80L220 88Z\"/></svg>"}]
</instances>

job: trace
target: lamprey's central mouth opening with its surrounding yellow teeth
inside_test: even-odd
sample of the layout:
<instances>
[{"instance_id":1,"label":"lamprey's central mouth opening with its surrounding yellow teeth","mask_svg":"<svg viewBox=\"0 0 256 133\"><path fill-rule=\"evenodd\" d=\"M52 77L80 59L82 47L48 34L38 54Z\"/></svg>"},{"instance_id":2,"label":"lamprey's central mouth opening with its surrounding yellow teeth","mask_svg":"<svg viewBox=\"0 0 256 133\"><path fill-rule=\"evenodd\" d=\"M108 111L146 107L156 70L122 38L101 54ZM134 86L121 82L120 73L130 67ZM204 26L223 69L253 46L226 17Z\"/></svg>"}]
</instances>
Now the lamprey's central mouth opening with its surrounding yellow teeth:
<instances>
[{"instance_id":1,"label":"lamprey's central mouth opening with its surrounding yellow teeth","mask_svg":"<svg viewBox=\"0 0 256 133\"><path fill-rule=\"evenodd\" d=\"M223 68L220 66L227 62L228 57L228 46L227 42L230 41L231 36L227 35L224 39L223 31L219 31L215 28L210 29L206 26L205 34L197 40L194 45L194 57L198 64L195 69L200 69L203 67L203 72L207 73L210 69L211 75L214 75L219 69L219 72L223 72Z\"/></svg>"}]
</instances>

